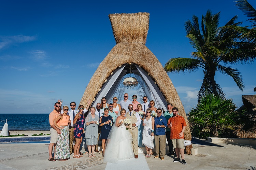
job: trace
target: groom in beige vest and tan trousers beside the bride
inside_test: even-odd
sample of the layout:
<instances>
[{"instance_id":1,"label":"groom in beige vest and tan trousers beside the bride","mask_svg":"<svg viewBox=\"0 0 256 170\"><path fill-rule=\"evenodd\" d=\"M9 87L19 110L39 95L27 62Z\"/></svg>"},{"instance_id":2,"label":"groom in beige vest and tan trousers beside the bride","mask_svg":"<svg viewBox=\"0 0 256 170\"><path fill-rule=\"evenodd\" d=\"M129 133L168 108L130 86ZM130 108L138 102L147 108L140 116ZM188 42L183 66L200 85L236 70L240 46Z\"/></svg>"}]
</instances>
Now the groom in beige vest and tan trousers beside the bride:
<instances>
[{"instance_id":1,"label":"groom in beige vest and tan trousers beside the bride","mask_svg":"<svg viewBox=\"0 0 256 170\"><path fill-rule=\"evenodd\" d=\"M129 131L132 136L132 148L134 153L134 158L138 158L139 147L138 147L138 126L141 123L140 115L133 111L133 105L129 104L129 112L126 113L126 117L131 119L131 124L129 126Z\"/></svg>"}]
</instances>

